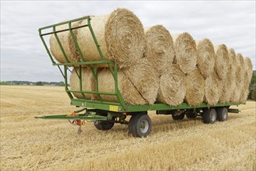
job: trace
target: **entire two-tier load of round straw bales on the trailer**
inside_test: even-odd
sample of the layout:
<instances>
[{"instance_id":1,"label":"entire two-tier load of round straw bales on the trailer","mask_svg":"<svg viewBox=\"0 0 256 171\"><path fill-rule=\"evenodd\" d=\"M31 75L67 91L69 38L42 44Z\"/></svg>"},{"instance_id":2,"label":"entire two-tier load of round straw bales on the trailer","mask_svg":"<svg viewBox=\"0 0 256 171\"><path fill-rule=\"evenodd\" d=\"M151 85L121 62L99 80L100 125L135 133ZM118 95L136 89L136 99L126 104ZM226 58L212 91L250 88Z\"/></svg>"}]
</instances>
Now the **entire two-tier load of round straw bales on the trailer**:
<instances>
[{"instance_id":1,"label":"entire two-tier load of round straw bales on the trailer","mask_svg":"<svg viewBox=\"0 0 256 171\"><path fill-rule=\"evenodd\" d=\"M213 46L211 40L195 42L189 33L171 36L160 25L146 30L128 9L117 9L107 16L92 16L93 33L106 60L118 65L117 84L124 102L129 105L153 104L156 101L177 106L185 102L245 103L252 76L250 58L227 50L225 44ZM72 23L86 25L87 20ZM68 24L56 30L68 29ZM88 27L73 30L86 61L101 61L100 53ZM70 62L81 58L69 31L57 33ZM51 53L57 61L65 58L54 35L50 38ZM107 65L92 65L98 75L99 92L115 92L114 77ZM82 78L82 87L79 84ZM70 87L75 91L96 91L96 80L90 68L72 71ZM117 96L72 92L81 99L117 102Z\"/></svg>"}]
</instances>

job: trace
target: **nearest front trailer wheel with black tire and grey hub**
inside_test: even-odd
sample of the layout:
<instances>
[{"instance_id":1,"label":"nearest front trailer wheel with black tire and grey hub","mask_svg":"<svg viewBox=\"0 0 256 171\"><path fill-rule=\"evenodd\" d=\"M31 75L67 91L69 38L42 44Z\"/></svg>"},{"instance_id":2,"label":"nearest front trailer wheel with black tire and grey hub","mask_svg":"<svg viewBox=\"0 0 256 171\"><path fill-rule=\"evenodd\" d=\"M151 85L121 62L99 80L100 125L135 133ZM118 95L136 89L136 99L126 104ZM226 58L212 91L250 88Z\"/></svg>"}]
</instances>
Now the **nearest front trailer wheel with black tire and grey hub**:
<instances>
[{"instance_id":1,"label":"nearest front trailer wheel with black tire and grey hub","mask_svg":"<svg viewBox=\"0 0 256 171\"><path fill-rule=\"evenodd\" d=\"M133 137L147 137L152 128L152 121L146 113L136 113L129 121L129 132Z\"/></svg>"}]
</instances>

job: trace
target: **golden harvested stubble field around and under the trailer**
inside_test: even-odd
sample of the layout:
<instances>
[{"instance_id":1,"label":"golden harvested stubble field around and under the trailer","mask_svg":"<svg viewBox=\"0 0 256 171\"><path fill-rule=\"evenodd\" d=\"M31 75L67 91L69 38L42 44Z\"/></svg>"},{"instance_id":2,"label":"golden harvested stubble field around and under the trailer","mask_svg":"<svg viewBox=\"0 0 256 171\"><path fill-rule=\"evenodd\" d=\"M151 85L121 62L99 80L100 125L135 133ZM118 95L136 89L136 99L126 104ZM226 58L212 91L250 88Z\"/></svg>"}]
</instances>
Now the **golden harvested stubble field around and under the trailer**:
<instances>
[{"instance_id":1,"label":"golden harvested stubble field around and under the trailer","mask_svg":"<svg viewBox=\"0 0 256 171\"><path fill-rule=\"evenodd\" d=\"M98 131L93 124L78 127L65 120L35 116L65 114L64 87L1 86L1 170L255 170L256 102L240 105L226 122L203 124L172 120L150 112L148 138L128 135L116 124Z\"/></svg>"}]
</instances>

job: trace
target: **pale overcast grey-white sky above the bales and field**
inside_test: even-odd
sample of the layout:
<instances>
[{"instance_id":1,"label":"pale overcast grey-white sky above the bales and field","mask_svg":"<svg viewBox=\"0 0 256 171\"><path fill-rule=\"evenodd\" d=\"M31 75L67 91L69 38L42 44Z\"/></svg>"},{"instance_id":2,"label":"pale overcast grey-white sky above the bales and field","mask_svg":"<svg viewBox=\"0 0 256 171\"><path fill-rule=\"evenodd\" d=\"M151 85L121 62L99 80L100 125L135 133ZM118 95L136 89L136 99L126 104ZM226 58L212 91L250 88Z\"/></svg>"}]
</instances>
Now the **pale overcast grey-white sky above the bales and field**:
<instances>
[{"instance_id":1,"label":"pale overcast grey-white sky above the bales and field","mask_svg":"<svg viewBox=\"0 0 256 171\"><path fill-rule=\"evenodd\" d=\"M255 66L255 1L1 1L1 81L63 81L51 65L38 28L126 8L144 27L163 25L171 34L226 44ZM47 40L48 41L48 40Z\"/></svg>"}]
</instances>

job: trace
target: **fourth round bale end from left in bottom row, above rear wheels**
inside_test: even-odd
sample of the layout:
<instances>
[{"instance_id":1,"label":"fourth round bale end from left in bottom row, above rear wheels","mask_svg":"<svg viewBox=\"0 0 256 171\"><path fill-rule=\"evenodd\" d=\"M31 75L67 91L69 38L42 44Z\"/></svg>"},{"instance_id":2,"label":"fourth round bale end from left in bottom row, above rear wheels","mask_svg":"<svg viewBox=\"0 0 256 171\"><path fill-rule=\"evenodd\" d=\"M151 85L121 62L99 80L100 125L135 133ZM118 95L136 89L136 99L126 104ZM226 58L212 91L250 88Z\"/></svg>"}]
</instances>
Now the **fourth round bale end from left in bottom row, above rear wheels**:
<instances>
[{"instance_id":1,"label":"fourth round bale end from left in bottom row, above rear wheels","mask_svg":"<svg viewBox=\"0 0 256 171\"><path fill-rule=\"evenodd\" d=\"M205 103L209 105L215 105L219 102L220 89L219 89L220 79L216 75L216 72L213 72L212 75L209 75L205 79Z\"/></svg>"}]
</instances>

